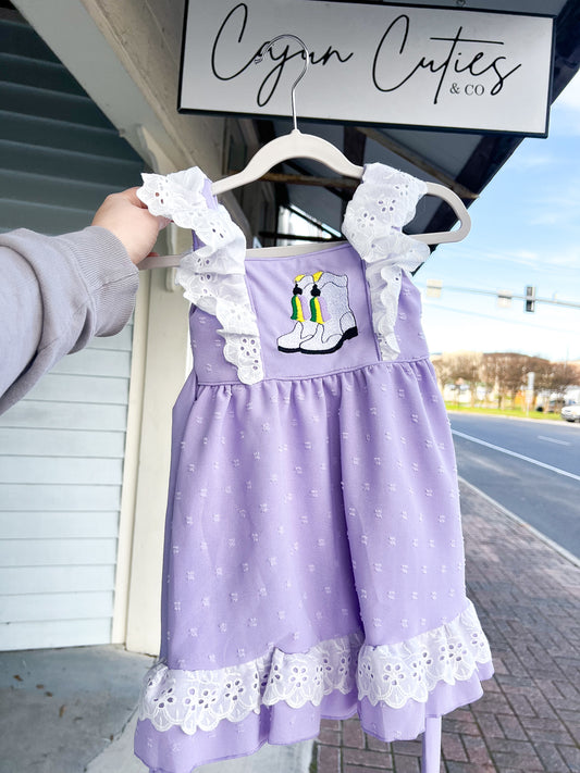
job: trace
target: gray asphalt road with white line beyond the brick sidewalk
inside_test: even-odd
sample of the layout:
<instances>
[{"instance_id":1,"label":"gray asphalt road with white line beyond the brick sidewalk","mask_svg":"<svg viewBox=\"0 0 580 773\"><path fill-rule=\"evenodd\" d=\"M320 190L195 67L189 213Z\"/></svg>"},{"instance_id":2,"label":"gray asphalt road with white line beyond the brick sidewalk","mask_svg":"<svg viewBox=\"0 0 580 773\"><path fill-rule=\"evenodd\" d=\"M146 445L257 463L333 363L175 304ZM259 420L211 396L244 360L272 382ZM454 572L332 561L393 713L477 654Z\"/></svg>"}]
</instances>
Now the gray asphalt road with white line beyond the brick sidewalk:
<instances>
[{"instance_id":1,"label":"gray asphalt road with white line beyond the brick sidewalk","mask_svg":"<svg viewBox=\"0 0 580 773\"><path fill-rule=\"evenodd\" d=\"M580 558L580 424L449 419L459 475Z\"/></svg>"}]
</instances>

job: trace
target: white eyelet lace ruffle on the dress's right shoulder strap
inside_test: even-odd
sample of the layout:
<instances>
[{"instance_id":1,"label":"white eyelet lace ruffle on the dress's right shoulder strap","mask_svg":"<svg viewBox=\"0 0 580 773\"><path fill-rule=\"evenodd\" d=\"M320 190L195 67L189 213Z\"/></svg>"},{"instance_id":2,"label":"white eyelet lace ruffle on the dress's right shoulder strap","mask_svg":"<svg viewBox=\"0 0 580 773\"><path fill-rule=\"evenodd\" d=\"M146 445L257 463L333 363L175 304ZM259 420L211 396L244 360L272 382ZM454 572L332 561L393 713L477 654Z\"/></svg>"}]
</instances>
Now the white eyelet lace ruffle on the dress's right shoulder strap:
<instances>
[{"instance_id":1,"label":"white eyelet lace ruffle on the dress's right shoulder strap","mask_svg":"<svg viewBox=\"0 0 580 773\"><path fill-rule=\"evenodd\" d=\"M343 233L366 264L372 324L381 358L395 360L395 336L402 272L410 273L430 254L429 247L402 233L414 215L427 185L405 172L368 164L362 185L349 201Z\"/></svg>"}]
</instances>

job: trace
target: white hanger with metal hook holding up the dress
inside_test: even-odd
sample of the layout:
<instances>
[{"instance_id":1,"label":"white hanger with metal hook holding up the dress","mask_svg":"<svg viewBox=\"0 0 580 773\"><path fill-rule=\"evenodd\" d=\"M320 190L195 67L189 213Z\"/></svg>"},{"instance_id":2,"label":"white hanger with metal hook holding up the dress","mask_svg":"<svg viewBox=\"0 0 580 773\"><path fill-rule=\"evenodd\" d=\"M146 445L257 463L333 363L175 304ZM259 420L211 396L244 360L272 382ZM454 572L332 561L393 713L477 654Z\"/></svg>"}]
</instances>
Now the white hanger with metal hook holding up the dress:
<instances>
[{"instance_id":1,"label":"white hanger with metal hook holding up the dress","mask_svg":"<svg viewBox=\"0 0 580 773\"><path fill-rule=\"evenodd\" d=\"M297 35L279 35L272 38L272 40L262 48L255 61L261 62L271 47L281 38L294 38L304 49L304 67L294 82L291 91L294 128L288 134L276 137L260 148L242 172L230 175L229 177L223 177L213 183L211 186L213 196L220 196L227 190L233 190L243 185L254 183L269 172L272 166L276 166L287 159L312 159L320 161L333 172L344 177L354 177L355 179L361 179L362 177L365 167L357 166L348 161L344 153L342 153L336 146L332 145L332 142L312 134L303 134L298 129L296 119L296 86L306 75L309 63L309 53L304 41ZM439 183L427 182L425 185L428 196L436 196L451 205L459 221L459 227L454 230L439 230L432 234L412 234L412 238L428 245L442 245L465 239L471 228L471 217L461 199L453 190ZM330 246L335 247L336 244L340 242L333 241ZM248 250L247 254L251 255L255 252L259 252L259 254L264 257L269 253L281 255L284 254L284 252L289 253L289 250L292 250L293 254L297 254L299 252L313 252L320 249L328 249L328 247L329 245L325 242L318 242L316 245L305 244L299 246L294 245L292 248L260 248L259 250ZM145 261L139 264L139 269L175 266L178 265L181 258L182 255L165 255L162 258L156 255L155 258L146 258Z\"/></svg>"}]
</instances>

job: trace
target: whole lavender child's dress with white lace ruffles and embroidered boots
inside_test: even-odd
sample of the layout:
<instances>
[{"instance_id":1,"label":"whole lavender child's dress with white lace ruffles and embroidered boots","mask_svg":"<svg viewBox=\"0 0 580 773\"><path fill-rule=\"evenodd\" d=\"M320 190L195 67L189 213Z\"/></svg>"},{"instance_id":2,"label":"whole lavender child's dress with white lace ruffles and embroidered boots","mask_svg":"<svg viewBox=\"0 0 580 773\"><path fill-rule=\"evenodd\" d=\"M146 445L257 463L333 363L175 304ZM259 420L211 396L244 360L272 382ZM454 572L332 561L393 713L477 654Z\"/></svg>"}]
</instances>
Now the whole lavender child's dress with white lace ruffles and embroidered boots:
<instances>
[{"instance_id":1,"label":"whole lavender child's dress with white lace ruffles and embroidered boots","mask_svg":"<svg viewBox=\"0 0 580 773\"><path fill-rule=\"evenodd\" d=\"M481 696L448 421L400 228L424 183L366 167L347 242L246 258L198 169L144 175L192 228L194 369L173 416L160 662L135 748L156 773L318 735L383 740Z\"/></svg>"}]
</instances>

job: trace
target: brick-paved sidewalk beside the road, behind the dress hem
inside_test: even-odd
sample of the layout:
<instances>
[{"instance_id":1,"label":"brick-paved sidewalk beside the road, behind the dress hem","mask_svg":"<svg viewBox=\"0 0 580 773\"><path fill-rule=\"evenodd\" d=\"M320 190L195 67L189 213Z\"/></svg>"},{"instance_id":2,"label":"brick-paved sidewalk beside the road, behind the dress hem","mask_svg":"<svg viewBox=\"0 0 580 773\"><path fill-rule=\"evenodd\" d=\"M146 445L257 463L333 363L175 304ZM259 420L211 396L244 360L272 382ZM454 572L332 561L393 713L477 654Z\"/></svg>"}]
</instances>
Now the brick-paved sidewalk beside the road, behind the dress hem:
<instances>
[{"instance_id":1,"label":"brick-paved sidewalk beside the road, behind the dress hem","mask_svg":"<svg viewBox=\"0 0 580 773\"><path fill-rule=\"evenodd\" d=\"M443 720L442 773L580 773L580 569L461 485L468 595L495 676ZM324 721L311 773L419 773L421 741Z\"/></svg>"}]
</instances>

